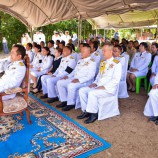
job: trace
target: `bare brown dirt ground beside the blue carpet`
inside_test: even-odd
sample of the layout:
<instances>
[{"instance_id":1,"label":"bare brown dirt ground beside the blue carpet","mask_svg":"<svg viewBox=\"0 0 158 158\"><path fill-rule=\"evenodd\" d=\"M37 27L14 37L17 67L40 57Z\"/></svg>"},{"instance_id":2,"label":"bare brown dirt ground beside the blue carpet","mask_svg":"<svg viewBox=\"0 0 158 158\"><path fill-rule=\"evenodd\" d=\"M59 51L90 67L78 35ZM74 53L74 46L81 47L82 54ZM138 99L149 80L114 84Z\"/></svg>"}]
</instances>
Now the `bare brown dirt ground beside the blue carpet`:
<instances>
[{"instance_id":1,"label":"bare brown dirt ground beside the blue carpet","mask_svg":"<svg viewBox=\"0 0 158 158\"><path fill-rule=\"evenodd\" d=\"M158 126L143 115L147 98L143 87L140 94L130 92L128 99L119 100L120 116L88 125L76 119L80 110L73 109L65 114L112 144L111 148L91 158L158 158ZM51 105L55 107L58 103Z\"/></svg>"}]
</instances>

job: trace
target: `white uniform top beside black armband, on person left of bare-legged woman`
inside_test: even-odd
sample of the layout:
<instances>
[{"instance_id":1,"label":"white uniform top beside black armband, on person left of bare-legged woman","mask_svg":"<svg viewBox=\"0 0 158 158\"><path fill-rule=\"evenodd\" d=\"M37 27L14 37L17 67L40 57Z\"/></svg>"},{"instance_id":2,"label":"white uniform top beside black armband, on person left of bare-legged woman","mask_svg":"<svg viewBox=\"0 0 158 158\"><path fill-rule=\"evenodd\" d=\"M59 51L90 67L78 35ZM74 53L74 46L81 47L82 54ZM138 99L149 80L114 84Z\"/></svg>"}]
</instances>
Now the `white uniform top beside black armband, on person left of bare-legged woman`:
<instances>
[{"instance_id":1,"label":"white uniform top beside black armband, on person left of bare-legged woman","mask_svg":"<svg viewBox=\"0 0 158 158\"><path fill-rule=\"evenodd\" d=\"M34 70L37 70L41 66L41 63L39 63L40 60L43 60L43 55L41 53L36 53L31 63Z\"/></svg>"}]
</instances>

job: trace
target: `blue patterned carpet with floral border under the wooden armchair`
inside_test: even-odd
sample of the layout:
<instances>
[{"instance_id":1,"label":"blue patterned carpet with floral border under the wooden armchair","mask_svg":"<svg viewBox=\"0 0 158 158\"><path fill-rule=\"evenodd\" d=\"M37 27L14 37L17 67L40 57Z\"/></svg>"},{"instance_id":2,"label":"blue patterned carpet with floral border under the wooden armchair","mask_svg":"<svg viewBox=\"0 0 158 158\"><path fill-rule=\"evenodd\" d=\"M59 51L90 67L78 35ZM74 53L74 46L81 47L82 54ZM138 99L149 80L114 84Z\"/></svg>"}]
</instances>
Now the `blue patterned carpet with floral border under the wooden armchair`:
<instances>
[{"instance_id":1,"label":"blue patterned carpet with floral border under the wooden armchair","mask_svg":"<svg viewBox=\"0 0 158 158\"><path fill-rule=\"evenodd\" d=\"M25 114L0 117L0 158L85 158L111 147L31 94L29 109L31 125Z\"/></svg>"}]
</instances>

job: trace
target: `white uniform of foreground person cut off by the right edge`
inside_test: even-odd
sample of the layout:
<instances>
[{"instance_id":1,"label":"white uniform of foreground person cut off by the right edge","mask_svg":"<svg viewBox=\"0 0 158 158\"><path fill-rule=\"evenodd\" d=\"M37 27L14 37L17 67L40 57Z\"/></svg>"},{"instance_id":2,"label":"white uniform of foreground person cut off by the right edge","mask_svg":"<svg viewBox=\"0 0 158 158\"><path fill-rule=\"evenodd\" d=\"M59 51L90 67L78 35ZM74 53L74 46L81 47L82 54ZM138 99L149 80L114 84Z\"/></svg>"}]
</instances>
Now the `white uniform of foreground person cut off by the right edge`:
<instances>
[{"instance_id":1,"label":"white uniform of foreground person cut off by the right edge","mask_svg":"<svg viewBox=\"0 0 158 158\"><path fill-rule=\"evenodd\" d=\"M155 77L155 84L158 84L158 73ZM145 116L158 116L158 87L156 89L151 89L149 93L148 101L144 109Z\"/></svg>"}]
</instances>

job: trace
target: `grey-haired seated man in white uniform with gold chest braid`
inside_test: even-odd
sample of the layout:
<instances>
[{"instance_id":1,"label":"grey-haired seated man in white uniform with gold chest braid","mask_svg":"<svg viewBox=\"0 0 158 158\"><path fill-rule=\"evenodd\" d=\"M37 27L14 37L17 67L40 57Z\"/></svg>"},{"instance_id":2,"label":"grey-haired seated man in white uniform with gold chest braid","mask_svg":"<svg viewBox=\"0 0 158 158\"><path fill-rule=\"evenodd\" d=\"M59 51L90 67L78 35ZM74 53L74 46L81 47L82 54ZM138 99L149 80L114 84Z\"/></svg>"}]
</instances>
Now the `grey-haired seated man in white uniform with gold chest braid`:
<instances>
[{"instance_id":1,"label":"grey-haired seated man in white uniform with gold chest braid","mask_svg":"<svg viewBox=\"0 0 158 158\"><path fill-rule=\"evenodd\" d=\"M99 73L94 83L79 90L83 113L77 118L88 117L85 123L92 123L98 118L99 98L108 99L108 97L113 96L121 79L122 67L120 62L113 57L113 45L105 44L103 46L103 55L106 60L101 62Z\"/></svg>"}]
</instances>

